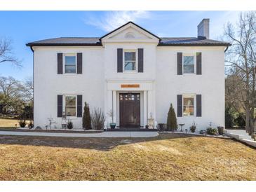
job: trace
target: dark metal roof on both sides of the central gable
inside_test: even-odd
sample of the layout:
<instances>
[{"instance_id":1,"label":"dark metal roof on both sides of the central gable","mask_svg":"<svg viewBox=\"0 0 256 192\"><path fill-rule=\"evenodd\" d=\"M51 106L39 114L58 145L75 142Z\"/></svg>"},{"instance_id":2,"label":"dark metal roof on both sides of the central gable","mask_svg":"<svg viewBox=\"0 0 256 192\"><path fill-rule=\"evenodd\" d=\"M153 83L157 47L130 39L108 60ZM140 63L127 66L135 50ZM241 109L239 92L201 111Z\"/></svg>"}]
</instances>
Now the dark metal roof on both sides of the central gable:
<instances>
[{"instance_id":1,"label":"dark metal roof on both sides of the central gable","mask_svg":"<svg viewBox=\"0 0 256 192\"><path fill-rule=\"evenodd\" d=\"M27 46L102 46L99 37L60 37L27 43ZM224 41L202 37L163 37L159 46L231 46Z\"/></svg>"}]
</instances>

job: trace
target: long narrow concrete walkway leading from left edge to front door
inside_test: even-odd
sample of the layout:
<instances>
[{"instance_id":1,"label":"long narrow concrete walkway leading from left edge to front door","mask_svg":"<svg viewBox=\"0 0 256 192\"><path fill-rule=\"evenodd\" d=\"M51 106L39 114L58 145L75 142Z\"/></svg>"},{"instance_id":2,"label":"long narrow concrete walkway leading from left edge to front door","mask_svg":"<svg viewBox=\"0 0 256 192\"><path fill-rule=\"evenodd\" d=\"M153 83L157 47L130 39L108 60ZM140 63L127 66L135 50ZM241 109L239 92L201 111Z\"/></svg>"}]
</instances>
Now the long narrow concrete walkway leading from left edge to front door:
<instances>
[{"instance_id":1,"label":"long narrow concrete walkway leading from left edge to front door","mask_svg":"<svg viewBox=\"0 0 256 192\"><path fill-rule=\"evenodd\" d=\"M18 132L0 131L0 135L37 136L37 137L156 137L158 132L99 132L99 133L66 133L66 132Z\"/></svg>"}]
</instances>

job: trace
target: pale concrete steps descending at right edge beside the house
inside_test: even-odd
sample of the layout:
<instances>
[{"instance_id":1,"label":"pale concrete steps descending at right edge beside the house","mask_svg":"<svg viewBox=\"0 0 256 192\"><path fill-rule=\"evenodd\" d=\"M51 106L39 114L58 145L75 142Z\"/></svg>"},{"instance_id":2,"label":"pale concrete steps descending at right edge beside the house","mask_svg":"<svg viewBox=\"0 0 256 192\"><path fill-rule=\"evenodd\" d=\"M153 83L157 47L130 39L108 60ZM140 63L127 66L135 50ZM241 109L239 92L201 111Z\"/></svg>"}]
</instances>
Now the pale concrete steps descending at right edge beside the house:
<instances>
[{"instance_id":1,"label":"pale concrete steps descending at right edge beside the house","mask_svg":"<svg viewBox=\"0 0 256 192\"><path fill-rule=\"evenodd\" d=\"M256 141L248 135L245 130L225 130L225 135L232 137L240 142L256 147Z\"/></svg>"}]
</instances>

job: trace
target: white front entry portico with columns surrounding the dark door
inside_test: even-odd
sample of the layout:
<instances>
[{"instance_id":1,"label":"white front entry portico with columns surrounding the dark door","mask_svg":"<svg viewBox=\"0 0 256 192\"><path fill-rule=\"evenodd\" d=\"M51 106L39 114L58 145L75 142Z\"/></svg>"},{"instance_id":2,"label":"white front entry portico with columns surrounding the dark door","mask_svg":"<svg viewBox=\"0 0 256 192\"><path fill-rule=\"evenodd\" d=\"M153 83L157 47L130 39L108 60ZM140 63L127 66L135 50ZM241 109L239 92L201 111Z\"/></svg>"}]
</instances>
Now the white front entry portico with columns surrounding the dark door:
<instances>
[{"instance_id":1,"label":"white front entry portico with columns surrounding the dark door","mask_svg":"<svg viewBox=\"0 0 256 192\"><path fill-rule=\"evenodd\" d=\"M149 117L155 119L154 81L108 80L106 87L108 126L114 122L117 128L144 128Z\"/></svg>"}]
</instances>

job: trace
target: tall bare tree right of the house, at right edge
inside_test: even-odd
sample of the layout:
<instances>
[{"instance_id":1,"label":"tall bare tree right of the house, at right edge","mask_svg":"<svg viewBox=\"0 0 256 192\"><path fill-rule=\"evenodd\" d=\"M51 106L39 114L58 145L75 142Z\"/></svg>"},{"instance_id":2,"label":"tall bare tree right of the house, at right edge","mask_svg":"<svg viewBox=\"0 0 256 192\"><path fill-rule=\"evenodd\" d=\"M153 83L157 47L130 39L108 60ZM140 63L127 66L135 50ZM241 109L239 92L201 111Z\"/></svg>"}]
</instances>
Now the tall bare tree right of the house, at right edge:
<instances>
[{"instance_id":1,"label":"tall bare tree right of the house, at right edge","mask_svg":"<svg viewBox=\"0 0 256 192\"><path fill-rule=\"evenodd\" d=\"M233 76L237 86L233 86L233 97L245 110L245 127L251 135L255 127L253 111L255 109L256 80L256 16L255 12L241 13L237 26L230 23L225 28L227 41L232 43L227 51L229 75ZM236 78L234 78L236 76ZM242 95L241 95L242 93ZM227 95L228 96L228 95ZM230 95L229 95L230 96ZM233 102L234 104L235 102ZM234 105L235 106L235 105Z\"/></svg>"}]
</instances>

